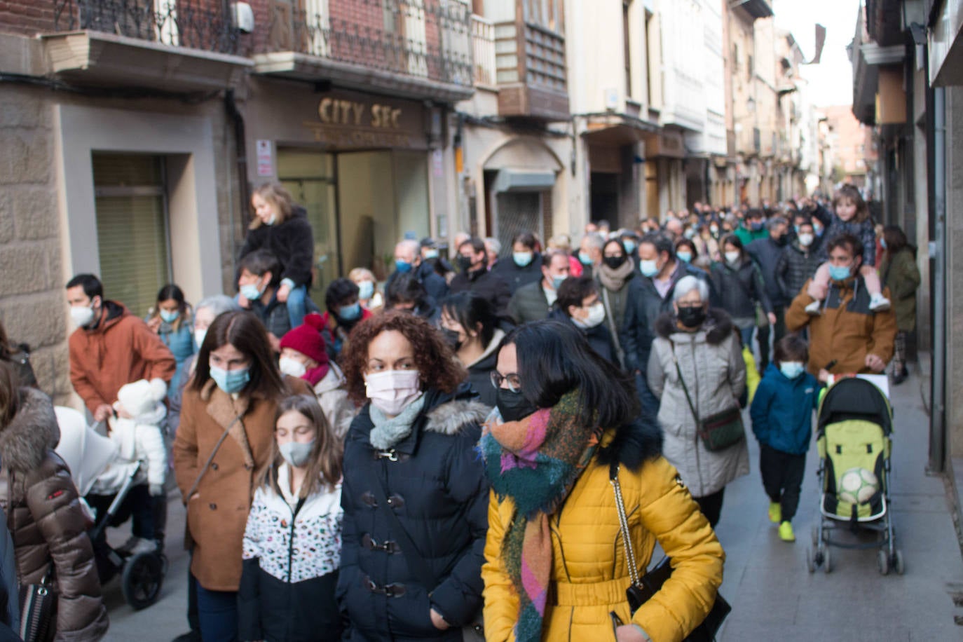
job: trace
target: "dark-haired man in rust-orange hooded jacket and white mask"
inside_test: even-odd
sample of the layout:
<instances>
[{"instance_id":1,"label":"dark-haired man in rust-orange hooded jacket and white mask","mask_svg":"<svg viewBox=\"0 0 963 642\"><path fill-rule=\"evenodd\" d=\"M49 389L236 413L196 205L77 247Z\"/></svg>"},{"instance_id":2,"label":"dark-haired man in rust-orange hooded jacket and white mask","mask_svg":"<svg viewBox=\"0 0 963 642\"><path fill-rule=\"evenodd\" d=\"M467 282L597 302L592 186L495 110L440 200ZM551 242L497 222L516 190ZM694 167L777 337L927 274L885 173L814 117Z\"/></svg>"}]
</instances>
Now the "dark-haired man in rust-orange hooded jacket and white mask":
<instances>
[{"instance_id":1,"label":"dark-haired man in rust-orange hooded jacket and white mask","mask_svg":"<svg viewBox=\"0 0 963 642\"><path fill-rule=\"evenodd\" d=\"M66 302L77 325L67 342L70 383L95 422L111 415L121 386L140 379L170 383L176 363L168 347L122 304L105 300L100 279L74 276Z\"/></svg>"}]
</instances>

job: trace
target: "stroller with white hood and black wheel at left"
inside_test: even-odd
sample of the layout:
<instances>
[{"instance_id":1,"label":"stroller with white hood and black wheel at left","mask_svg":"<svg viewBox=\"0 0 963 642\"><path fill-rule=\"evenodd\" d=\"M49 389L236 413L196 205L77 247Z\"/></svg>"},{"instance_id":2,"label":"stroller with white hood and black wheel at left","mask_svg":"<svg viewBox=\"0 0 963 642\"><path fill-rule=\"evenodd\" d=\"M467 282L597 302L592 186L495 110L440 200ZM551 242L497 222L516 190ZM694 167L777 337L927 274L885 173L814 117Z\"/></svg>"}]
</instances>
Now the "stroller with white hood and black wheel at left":
<instances>
[{"instance_id":1,"label":"stroller with white hood and black wheel at left","mask_svg":"<svg viewBox=\"0 0 963 642\"><path fill-rule=\"evenodd\" d=\"M91 492L97 476L114 461L117 445L87 425L84 416L73 408L57 406L54 410L61 429L57 453L69 467L77 492L83 498ZM117 511L139 473L140 464L126 475L106 513L96 516L95 526L90 531L91 542L97 542L107 526L117 526ZM91 521L94 521L90 506L86 501L82 502ZM93 553L101 584L106 584L117 575L121 576L120 590L132 608L140 610L157 602L168 568L168 560L162 550L131 555L111 548L104 539L101 545L94 545Z\"/></svg>"}]
</instances>

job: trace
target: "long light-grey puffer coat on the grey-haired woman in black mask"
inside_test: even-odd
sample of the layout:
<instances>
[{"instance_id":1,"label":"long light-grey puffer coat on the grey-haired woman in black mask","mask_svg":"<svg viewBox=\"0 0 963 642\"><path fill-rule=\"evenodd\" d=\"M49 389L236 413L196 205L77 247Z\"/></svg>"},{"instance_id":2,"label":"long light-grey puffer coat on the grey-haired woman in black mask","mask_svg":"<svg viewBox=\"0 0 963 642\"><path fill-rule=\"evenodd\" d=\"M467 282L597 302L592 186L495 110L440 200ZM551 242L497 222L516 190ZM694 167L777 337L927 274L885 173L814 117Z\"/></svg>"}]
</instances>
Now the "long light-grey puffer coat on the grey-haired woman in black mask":
<instances>
[{"instance_id":1,"label":"long light-grey puffer coat on the grey-haired woman in black mask","mask_svg":"<svg viewBox=\"0 0 963 642\"><path fill-rule=\"evenodd\" d=\"M716 452L702 444L672 360L673 344L692 403L703 418L739 406L745 387L742 347L729 315L715 308L697 332L679 330L670 313L656 321L656 332L648 382L652 394L662 400L663 454L678 469L692 497L712 495L736 477L748 475L749 450L744 439Z\"/></svg>"}]
</instances>

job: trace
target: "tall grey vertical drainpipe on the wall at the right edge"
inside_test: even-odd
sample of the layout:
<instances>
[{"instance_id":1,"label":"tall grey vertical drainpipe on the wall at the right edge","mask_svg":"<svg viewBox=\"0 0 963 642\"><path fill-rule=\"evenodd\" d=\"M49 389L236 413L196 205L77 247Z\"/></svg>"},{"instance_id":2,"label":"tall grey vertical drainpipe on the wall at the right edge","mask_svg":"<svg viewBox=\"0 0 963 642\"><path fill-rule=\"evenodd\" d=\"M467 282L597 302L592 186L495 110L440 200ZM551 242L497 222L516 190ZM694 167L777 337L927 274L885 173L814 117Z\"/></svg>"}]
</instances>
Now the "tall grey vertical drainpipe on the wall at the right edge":
<instances>
[{"instance_id":1,"label":"tall grey vertical drainpipe on the wall at the right edge","mask_svg":"<svg viewBox=\"0 0 963 642\"><path fill-rule=\"evenodd\" d=\"M930 473L943 473L946 464L946 349L947 341L947 173L946 173L946 102L941 87L933 90L933 204L931 217L934 225L930 237L931 273L933 281L933 336L931 376L932 407L929 414ZM934 256L935 255L935 256Z\"/></svg>"}]
</instances>

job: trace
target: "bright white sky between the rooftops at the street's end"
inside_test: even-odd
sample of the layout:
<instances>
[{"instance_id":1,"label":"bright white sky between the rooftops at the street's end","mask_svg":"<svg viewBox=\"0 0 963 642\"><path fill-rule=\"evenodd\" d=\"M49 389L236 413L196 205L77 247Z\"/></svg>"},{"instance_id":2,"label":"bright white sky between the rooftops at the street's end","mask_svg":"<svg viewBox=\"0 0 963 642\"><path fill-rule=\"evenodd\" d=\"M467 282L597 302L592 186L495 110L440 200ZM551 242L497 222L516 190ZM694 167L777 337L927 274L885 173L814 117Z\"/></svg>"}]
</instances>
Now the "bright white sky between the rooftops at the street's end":
<instances>
[{"instance_id":1,"label":"bright white sky between the rooftops at the street's end","mask_svg":"<svg viewBox=\"0 0 963 642\"><path fill-rule=\"evenodd\" d=\"M813 57L816 23L826 28L820 64L805 64L802 76L810 83L810 96L819 106L852 103L852 64L846 45L856 32L860 0L774 0L776 25L793 32L806 60Z\"/></svg>"}]
</instances>

